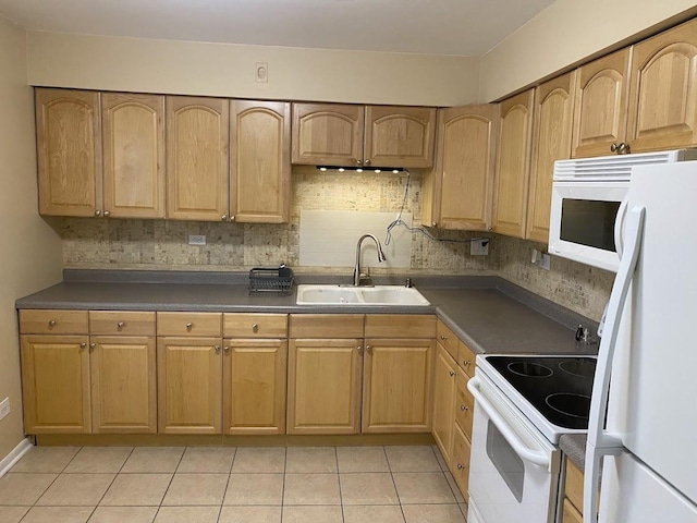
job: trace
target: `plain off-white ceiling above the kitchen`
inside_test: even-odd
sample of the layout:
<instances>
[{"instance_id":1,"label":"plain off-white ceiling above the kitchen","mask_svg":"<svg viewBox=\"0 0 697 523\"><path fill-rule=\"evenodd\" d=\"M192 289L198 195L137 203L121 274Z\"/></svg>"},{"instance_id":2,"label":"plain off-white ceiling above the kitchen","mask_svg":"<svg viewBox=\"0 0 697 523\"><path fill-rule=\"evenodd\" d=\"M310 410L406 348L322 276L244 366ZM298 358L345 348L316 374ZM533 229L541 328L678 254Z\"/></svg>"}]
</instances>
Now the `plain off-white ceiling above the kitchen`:
<instances>
[{"instance_id":1,"label":"plain off-white ceiling above the kitchen","mask_svg":"<svg viewBox=\"0 0 697 523\"><path fill-rule=\"evenodd\" d=\"M479 57L553 0L0 0L23 27Z\"/></svg>"}]
</instances>

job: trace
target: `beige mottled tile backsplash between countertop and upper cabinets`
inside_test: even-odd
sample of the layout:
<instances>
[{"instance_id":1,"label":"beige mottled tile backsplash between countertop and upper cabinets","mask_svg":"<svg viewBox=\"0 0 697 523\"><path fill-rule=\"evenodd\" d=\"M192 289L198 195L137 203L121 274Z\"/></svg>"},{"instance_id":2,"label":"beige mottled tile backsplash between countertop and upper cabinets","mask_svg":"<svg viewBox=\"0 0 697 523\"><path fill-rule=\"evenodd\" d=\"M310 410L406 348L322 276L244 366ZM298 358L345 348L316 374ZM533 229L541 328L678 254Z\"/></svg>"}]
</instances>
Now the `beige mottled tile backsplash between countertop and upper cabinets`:
<instances>
[{"instance_id":1,"label":"beige mottled tile backsplash between countertop and upper cabinets","mask_svg":"<svg viewBox=\"0 0 697 523\"><path fill-rule=\"evenodd\" d=\"M65 268L143 270L248 270L286 263L298 272L346 272L345 267L299 266L299 215L306 210L391 211L413 215L409 273L499 275L513 283L599 320L614 275L552 257L550 271L530 264L545 245L498 234L420 228L423 175L293 172L291 220L285 224L62 218ZM408 194L404 192L408 183ZM188 245L205 234L207 245ZM491 239L488 256L472 256L468 240ZM384 234L380 235L384 240ZM356 238L357 240L357 238ZM384 269L371 269L380 273Z\"/></svg>"}]
</instances>

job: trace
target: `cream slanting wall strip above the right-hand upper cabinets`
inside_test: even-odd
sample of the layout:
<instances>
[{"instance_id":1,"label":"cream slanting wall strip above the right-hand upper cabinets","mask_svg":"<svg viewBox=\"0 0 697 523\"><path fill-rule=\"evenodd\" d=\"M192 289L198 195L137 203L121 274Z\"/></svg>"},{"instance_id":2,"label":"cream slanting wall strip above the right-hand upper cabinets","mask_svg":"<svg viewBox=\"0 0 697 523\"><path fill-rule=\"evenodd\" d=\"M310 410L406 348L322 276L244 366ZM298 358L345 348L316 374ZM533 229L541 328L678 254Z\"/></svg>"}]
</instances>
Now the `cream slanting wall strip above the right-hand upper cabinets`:
<instances>
[{"instance_id":1,"label":"cream slanting wall strip above the right-hand upper cabinets","mask_svg":"<svg viewBox=\"0 0 697 523\"><path fill-rule=\"evenodd\" d=\"M501 98L695 8L695 0L557 0L481 58L479 99Z\"/></svg>"}]
</instances>

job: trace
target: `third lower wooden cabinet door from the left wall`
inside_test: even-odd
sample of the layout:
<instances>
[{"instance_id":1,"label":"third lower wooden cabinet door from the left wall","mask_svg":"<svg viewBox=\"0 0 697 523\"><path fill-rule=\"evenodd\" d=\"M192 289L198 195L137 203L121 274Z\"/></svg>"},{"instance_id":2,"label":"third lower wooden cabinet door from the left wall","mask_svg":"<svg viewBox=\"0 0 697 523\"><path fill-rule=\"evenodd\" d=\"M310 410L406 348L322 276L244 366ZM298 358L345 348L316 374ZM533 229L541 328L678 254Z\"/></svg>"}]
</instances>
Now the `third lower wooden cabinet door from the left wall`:
<instances>
[{"instance_id":1,"label":"third lower wooden cabinet door from the left wall","mask_svg":"<svg viewBox=\"0 0 697 523\"><path fill-rule=\"evenodd\" d=\"M221 341L158 338L160 434L221 434Z\"/></svg>"}]
</instances>

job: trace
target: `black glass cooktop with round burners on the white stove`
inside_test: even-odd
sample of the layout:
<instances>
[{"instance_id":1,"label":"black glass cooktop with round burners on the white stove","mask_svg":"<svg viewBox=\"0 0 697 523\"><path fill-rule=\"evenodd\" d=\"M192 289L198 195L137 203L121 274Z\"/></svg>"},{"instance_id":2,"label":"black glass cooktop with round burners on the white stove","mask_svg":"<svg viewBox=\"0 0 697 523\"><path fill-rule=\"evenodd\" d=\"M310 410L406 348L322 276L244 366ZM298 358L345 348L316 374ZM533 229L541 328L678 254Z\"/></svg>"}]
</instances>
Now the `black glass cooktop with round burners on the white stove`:
<instances>
[{"instance_id":1,"label":"black glass cooktop with round burners on the white stove","mask_svg":"<svg viewBox=\"0 0 697 523\"><path fill-rule=\"evenodd\" d=\"M588 428L595 358L488 356L487 361L551 423Z\"/></svg>"}]
</instances>

